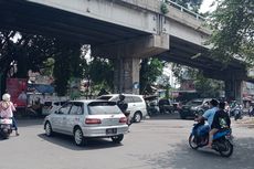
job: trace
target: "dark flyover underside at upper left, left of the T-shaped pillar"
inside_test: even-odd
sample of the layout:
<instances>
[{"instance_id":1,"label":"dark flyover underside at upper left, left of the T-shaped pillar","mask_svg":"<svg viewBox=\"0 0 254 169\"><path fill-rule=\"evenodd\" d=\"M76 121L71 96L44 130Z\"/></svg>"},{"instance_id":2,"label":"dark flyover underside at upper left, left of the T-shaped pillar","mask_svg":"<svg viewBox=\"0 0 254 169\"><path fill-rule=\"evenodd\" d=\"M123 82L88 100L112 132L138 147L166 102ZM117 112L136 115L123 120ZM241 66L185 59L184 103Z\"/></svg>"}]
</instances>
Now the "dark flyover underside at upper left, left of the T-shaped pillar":
<instances>
[{"instance_id":1,"label":"dark flyover underside at upper left, left of the T-shaped pillar","mask_svg":"<svg viewBox=\"0 0 254 169\"><path fill-rule=\"evenodd\" d=\"M0 0L0 29L3 30L17 30L92 45L149 34L24 1Z\"/></svg>"}]
</instances>

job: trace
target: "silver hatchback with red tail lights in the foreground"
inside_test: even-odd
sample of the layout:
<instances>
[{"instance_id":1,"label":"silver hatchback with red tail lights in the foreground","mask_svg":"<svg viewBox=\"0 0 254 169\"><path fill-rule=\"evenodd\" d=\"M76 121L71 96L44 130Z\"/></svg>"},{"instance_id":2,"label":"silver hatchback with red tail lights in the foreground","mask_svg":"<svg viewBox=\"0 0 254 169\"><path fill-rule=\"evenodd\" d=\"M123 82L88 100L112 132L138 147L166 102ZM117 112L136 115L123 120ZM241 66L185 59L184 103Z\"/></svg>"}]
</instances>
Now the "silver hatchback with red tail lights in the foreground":
<instances>
[{"instance_id":1,"label":"silver hatchback with red tail lights in the foreground","mask_svg":"<svg viewBox=\"0 0 254 169\"><path fill-rule=\"evenodd\" d=\"M112 138L115 144L128 131L127 118L115 102L72 101L44 119L46 136L54 133L71 135L77 146L88 138Z\"/></svg>"}]
</instances>

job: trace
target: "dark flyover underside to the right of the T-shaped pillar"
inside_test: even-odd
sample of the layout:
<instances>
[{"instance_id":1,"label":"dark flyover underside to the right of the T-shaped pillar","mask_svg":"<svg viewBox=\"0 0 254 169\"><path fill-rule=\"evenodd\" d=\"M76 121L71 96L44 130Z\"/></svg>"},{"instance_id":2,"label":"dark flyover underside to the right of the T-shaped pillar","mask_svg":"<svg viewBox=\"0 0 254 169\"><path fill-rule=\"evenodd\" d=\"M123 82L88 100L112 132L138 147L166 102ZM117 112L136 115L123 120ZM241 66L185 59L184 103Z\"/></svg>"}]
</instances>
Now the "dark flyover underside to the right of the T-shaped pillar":
<instances>
[{"instance_id":1,"label":"dark flyover underside to the right of the T-shaped pillar","mask_svg":"<svg viewBox=\"0 0 254 169\"><path fill-rule=\"evenodd\" d=\"M209 57L207 49L176 36L170 36L170 50L159 54L159 59L202 70L205 76L215 80L224 81L232 76L235 80L246 80L244 65L232 61L225 67L221 62Z\"/></svg>"}]
</instances>

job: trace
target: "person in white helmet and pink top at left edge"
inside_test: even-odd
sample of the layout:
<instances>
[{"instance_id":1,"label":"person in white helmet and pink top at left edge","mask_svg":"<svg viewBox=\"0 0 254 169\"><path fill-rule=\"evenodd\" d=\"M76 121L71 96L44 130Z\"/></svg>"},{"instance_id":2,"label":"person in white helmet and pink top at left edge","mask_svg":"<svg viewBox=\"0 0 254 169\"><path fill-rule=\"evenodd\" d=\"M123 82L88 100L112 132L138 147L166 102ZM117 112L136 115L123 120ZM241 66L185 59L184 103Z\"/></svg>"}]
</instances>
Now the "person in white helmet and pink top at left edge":
<instances>
[{"instance_id":1,"label":"person in white helmet and pink top at left edge","mask_svg":"<svg viewBox=\"0 0 254 169\"><path fill-rule=\"evenodd\" d=\"M11 102L11 95L8 93L2 95L2 101L0 102L0 117L1 118L11 118L12 119L12 126L15 130L15 136L19 136L18 133L18 126L15 118L13 116L13 112L15 112L15 107L13 103Z\"/></svg>"}]
</instances>

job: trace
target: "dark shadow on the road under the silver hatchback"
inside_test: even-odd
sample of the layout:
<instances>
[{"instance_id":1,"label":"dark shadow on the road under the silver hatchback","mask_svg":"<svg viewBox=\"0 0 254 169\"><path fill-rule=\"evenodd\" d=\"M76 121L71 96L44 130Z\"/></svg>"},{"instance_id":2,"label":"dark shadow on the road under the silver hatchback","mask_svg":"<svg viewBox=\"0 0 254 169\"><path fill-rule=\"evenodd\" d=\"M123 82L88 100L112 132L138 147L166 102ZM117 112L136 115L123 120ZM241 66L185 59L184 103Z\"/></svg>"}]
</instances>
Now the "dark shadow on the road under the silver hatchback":
<instances>
[{"instance_id":1,"label":"dark shadow on the road under the silver hatchback","mask_svg":"<svg viewBox=\"0 0 254 169\"><path fill-rule=\"evenodd\" d=\"M40 134L38 136L51 144L59 145L71 150L94 150L123 146L121 144L114 144L109 138L95 138L89 139L87 145L78 147L75 145L72 136L61 134L55 134L53 137L47 137L44 134Z\"/></svg>"}]
</instances>

